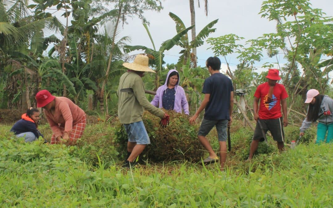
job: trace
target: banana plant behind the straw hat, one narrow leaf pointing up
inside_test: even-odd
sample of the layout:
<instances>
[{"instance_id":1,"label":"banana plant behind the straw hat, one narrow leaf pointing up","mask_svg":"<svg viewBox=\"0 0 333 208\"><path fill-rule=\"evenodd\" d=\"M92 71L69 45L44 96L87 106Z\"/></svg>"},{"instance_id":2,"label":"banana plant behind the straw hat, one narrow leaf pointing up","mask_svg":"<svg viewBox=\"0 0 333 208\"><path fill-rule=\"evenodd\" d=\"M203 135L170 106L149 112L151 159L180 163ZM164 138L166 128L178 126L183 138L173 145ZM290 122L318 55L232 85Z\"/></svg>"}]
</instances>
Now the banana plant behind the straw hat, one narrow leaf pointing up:
<instances>
[{"instance_id":1,"label":"banana plant behind the straw hat, one narrow leaf pointing up","mask_svg":"<svg viewBox=\"0 0 333 208\"><path fill-rule=\"evenodd\" d=\"M180 31L177 31L177 34L175 36L173 36L169 40L164 41L161 44L161 47L159 50L156 50L156 48L155 48L155 44L154 44L153 38L149 32L148 26L146 24L143 24L143 25L146 28L148 36L153 44L153 49L148 48L146 46L125 46L124 51L125 51L125 53L130 53L135 50L145 51L145 53L150 58L150 65L153 65L156 68L155 84L156 84L156 89L157 89L158 87L160 87L159 86L160 85L159 84L160 83L160 73L163 70L163 64L165 64L165 62L163 61L164 52L170 50L173 46L177 45L178 42L183 38L183 36L187 36L187 32L190 29L192 29L193 25L188 28L184 28Z\"/></svg>"}]
</instances>

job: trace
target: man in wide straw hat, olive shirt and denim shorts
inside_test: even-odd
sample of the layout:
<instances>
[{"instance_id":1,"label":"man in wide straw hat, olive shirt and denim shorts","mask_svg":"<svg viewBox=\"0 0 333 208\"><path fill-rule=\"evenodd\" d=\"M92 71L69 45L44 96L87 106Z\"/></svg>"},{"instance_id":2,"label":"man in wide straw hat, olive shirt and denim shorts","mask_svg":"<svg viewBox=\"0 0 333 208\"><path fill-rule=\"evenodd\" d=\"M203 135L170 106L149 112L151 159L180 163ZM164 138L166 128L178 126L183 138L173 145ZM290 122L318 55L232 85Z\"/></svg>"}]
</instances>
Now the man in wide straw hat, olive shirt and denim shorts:
<instances>
[{"instance_id":1,"label":"man in wide straw hat, olive shirt and denim shorts","mask_svg":"<svg viewBox=\"0 0 333 208\"><path fill-rule=\"evenodd\" d=\"M119 80L118 87L118 117L128 134L127 159L125 167L132 167L137 158L150 144L150 139L142 121L144 108L152 114L162 118L166 124L169 115L163 110L150 104L145 95L145 86L142 77L145 72L154 72L148 67L148 57L137 55L133 63L124 63L124 67L130 69Z\"/></svg>"}]
</instances>

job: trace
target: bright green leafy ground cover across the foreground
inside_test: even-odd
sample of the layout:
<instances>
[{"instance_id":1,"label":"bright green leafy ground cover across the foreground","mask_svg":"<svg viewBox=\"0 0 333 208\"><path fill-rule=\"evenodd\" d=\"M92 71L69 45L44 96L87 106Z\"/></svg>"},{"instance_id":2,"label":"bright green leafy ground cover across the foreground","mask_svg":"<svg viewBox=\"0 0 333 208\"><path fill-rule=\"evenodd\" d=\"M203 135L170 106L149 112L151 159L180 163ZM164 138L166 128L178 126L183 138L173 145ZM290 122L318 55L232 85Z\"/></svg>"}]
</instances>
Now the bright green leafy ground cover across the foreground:
<instances>
[{"instance_id":1,"label":"bright green leafy ground cover across the foreground","mask_svg":"<svg viewBox=\"0 0 333 208\"><path fill-rule=\"evenodd\" d=\"M1 207L332 207L331 144L304 142L277 153L270 143L261 148L269 153L246 163L251 131L234 127L225 172L187 161L148 161L131 171L119 165L109 123L88 125L85 141L72 147L24 143L9 129L0 125ZM287 139L297 129L288 126Z\"/></svg>"}]
</instances>

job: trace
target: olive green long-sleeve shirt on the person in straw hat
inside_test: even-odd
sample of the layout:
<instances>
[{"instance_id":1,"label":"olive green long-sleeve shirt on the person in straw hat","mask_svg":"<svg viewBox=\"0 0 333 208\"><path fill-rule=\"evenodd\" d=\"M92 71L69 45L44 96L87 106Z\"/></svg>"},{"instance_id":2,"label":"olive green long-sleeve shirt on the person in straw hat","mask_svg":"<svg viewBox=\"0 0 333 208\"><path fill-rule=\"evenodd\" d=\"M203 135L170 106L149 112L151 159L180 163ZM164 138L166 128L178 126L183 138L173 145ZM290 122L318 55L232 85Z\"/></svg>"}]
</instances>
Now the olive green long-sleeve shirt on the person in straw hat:
<instances>
[{"instance_id":1,"label":"olive green long-sleeve shirt on the person in straw hat","mask_svg":"<svg viewBox=\"0 0 333 208\"><path fill-rule=\"evenodd\" d=\"M141 121L144 108L160 118L165 114L147 100L144 82L135 72L126 72L120 77L117 94L118 117L121 123Z\"/></svg>"}]
</instances>

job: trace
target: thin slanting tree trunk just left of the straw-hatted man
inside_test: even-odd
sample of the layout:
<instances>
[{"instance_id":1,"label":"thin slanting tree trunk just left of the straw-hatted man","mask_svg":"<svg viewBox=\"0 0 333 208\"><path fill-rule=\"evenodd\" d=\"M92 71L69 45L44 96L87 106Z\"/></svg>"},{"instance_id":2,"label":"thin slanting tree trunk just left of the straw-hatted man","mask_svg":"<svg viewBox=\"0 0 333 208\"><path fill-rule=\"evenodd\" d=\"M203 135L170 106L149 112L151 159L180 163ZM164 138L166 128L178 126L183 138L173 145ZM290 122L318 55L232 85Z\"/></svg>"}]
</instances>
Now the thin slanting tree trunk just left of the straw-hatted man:
<instances>
[{"instance_id":1,"label":"thin slanting tree trunk just left of the straw-hatted man","mask_svg":"<svg viewBox=\"0 0 333 208\"><path fill-rule=\"evenodd\" d=\"M100 101L100 110L101 111L104 111L104 89L105 89L105 84L106 84L106 82L108 80L108 77L109 77L113 50L115 49L115 38L116 38L116 34L117 34L117 28L118 28L119 20L120 20L120 17L121 17L122 6L123 6L123 4L121 4L119 6L115 31L113 32L113 37L112 37L112 44L111 44L111 51L110 51L110 57L109 57L109 62L108 62L108 68L106 70L105 79L103 80L101 92L100 92L99 99L98 99Z\"/></svg>"}]
</instances>

